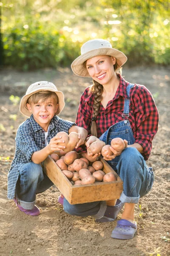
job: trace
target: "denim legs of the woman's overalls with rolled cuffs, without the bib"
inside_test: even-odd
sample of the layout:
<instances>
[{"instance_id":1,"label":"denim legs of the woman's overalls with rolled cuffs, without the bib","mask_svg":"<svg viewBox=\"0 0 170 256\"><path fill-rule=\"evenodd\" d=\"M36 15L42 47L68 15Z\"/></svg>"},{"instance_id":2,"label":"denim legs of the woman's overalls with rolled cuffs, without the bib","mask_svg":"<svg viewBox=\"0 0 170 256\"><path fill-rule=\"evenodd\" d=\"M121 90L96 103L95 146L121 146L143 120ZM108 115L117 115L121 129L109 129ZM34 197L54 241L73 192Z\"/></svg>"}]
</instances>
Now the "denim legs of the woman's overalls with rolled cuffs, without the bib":
<instances>
[{"instance_id":1,"label":"denim legs of the woman's overalls with rolled cuffs, without the bib","mask_svg":"<svg viewBox=\"0 0 170 256\"><path fill-rule=\"evenodd\" d=\"M153 186L154 175L136 148L125 148L116 166L117 173L123 180L123 192L120 196L122 203L139 202L139 198L146 195ZM106 203L93 202L71 205L64 198L64 211L70 215L92 216L101 218L106 210Z\"/></svg>"}]
</instances>

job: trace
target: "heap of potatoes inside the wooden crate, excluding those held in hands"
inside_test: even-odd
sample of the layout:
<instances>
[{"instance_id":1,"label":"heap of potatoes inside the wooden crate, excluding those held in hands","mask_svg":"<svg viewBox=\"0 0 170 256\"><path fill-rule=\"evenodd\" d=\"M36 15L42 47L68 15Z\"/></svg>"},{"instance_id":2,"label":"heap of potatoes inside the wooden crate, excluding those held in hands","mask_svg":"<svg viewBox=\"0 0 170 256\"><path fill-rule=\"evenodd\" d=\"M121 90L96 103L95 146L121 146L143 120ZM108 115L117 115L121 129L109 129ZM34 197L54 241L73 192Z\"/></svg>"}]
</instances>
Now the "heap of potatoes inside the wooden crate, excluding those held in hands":
<instances>
[{"instance_id":1,"label":"heap of potatoes inside the wooden crate, excluding those held in hands","mask_svg":"<svg viewBox=\"0 0 170 256\"><path fill-rule=\"evenodd\" d=\"M91 159L87 153L77 154L76 151L60 152L62 152L60 157L58 154L51 154L51 157L68 180L74 182L75 185L116 180L116 176L113 173L105 174L102 171L103 164L101 161Z\"/></svg>"}]
</instances>

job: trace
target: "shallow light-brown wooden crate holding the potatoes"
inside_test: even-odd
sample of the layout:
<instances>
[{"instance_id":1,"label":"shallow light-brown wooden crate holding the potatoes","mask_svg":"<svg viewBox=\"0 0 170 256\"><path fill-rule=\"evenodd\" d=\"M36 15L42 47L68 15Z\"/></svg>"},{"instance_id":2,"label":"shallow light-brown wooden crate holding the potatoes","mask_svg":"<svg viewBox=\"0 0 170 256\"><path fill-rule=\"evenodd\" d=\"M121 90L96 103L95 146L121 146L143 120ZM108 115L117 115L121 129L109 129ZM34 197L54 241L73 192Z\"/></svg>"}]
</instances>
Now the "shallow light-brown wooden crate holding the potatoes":
<instances>
[{"instance_id":1,"label":"shallow light-brown wooden crate holding the potatoes","mask_svg":"<svg viewBox=\"0 0 170 256\"><path fill-rule=\"evenodd\" d=\"M109 164L101 158L103 171L113 172L117 180L89 185L72 185L54 160L48 156L44 161L45 173L57 186L70 204L82 204L94 201L118 199L122 193L123 182Z\"/></svg>"}]
</instances>

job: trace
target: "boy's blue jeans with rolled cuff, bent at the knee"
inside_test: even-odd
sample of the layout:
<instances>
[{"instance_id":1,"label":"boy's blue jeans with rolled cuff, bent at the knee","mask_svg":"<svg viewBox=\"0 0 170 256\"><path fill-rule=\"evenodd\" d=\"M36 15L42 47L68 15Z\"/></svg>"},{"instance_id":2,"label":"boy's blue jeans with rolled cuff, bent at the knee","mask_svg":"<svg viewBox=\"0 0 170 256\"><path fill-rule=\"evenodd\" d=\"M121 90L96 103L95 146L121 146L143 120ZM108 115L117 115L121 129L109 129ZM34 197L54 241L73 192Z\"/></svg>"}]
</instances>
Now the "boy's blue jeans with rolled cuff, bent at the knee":
<instances>
[{"instance_id":1,"label":"boy's blue jeans with rolled cuff, bent at the knee","mask_svg":"<svg viewBox=\"0 0 170 256\"><path fill-rule=\"evenodd\" d=\"M37 193L41 193L54 185L43 172L42 166L36 163L25 163L19 170L16 195L20 206L33 209Z\"/></svg>"}]
</instances>

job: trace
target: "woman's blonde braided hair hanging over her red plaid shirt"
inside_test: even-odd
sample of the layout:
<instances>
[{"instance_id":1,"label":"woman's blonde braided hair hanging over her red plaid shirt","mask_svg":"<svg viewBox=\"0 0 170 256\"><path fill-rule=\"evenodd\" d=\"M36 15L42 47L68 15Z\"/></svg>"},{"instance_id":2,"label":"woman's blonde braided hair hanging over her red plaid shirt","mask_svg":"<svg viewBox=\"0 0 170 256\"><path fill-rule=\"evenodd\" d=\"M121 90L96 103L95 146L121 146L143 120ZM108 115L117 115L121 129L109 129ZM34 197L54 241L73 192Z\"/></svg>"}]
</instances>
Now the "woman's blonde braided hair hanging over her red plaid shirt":
<instances>
[{"instance_id":1,"label":"woman's blonde braided hair hanging over her red plaid shirt","mask_svg":"<svg viewBox=\"0 0 170 256\"><path fill-rule=\"evenodd\" d=\"M84 62L84 66L86 67L86 62ZM113 65L114 72L118 75L122 75L122 67L119 67L117 62ZM88 94L94 94L94 104L93 104L93 115L91 121L91 135L97 137L97 125L96 125L96 118L99 114L100 110L100 102L102 101L102 93L103 93L103 86L99 84L95 80L93 80L93 84L89 88Z\"/></svg>"}]
</instances>

